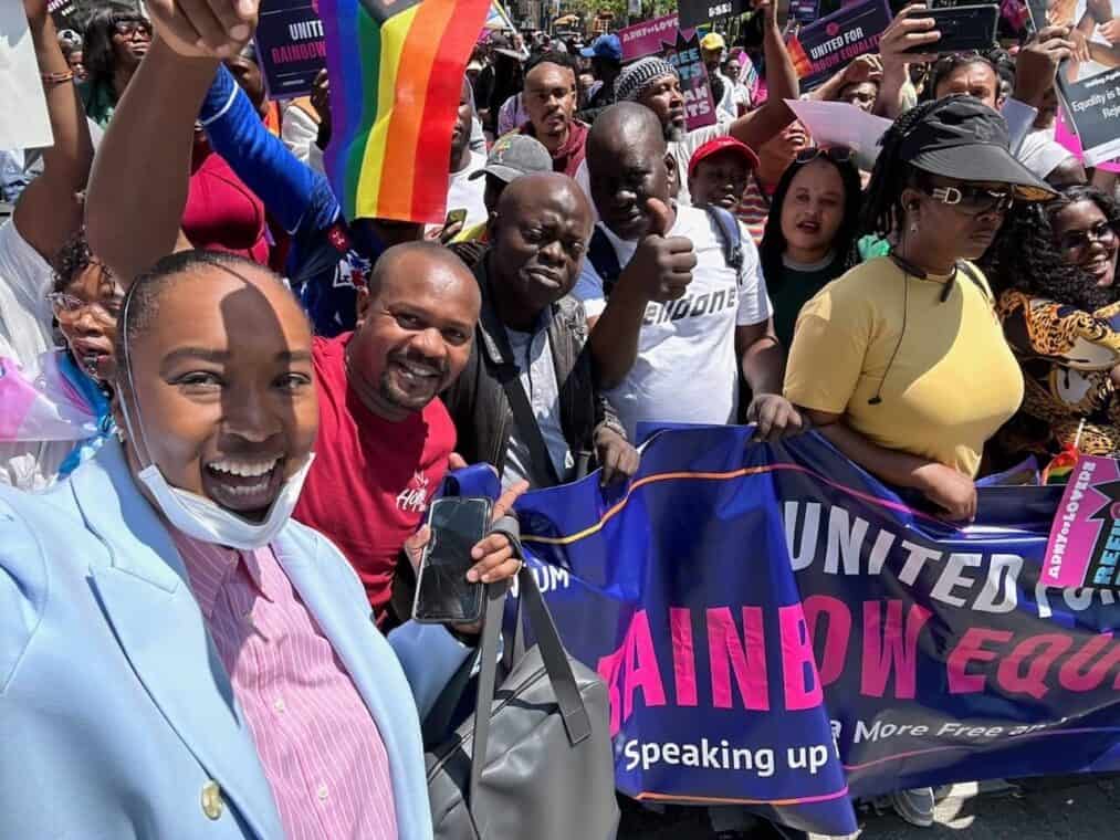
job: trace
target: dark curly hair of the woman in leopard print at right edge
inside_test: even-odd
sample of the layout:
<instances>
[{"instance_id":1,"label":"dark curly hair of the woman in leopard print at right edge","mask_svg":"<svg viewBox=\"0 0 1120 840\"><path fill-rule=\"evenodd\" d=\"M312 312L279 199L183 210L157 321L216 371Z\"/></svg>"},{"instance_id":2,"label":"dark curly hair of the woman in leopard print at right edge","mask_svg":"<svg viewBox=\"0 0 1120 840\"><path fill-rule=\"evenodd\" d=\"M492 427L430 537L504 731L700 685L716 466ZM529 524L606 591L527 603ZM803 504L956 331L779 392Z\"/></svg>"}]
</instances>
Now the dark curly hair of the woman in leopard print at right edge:
<instances>
[{"instance_id":1,"label":"dark curly hair of the woman in leopard print at right edge","mask_svg":"<svg viewBox=\"0 0 1120 840\"><path fill-rule=\"evenodd\" d=\"M1120 288L1100 287L1058 249L1054 220L1066 207L1092 202L1120 234L1120 208L1095 187L1075 185L1045 204L1017 203L999 237L980 261L996 293L1015 289L1093 312L1120 299Z\"/></svg>"}]
</instances>

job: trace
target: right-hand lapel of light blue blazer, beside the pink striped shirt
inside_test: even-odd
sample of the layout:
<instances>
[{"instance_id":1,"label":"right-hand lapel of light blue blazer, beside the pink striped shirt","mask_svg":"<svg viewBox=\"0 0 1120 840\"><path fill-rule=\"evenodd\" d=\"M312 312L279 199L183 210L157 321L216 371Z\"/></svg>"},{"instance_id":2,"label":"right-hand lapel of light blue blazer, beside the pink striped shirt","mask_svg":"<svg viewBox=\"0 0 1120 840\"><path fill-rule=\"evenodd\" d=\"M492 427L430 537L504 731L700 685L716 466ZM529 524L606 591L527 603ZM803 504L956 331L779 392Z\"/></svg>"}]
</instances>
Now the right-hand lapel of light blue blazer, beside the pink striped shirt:
<instances>
[{"instance_id":1,"label":"right-hand lapel of light blue blazer, beside the pink striped shirt","mask_svg":"<svg viewBox=\"0 0 1120 840\"><path fill-rule=\"evenodd\" d=\"M412 690L393 648L375 631L368 603L361 595L347 597L351 587L343 585L338 572L351 572L340 566L333 568L332 562L345 563L345 558L318 557L319 547L325 544L328 543L321 539L295 538L288 529L273 550L377 725L393 780L399 838L428 840L431 838L428 780ZM380 663L384 666L379 668Z\"/></svg>"}]
</instances>

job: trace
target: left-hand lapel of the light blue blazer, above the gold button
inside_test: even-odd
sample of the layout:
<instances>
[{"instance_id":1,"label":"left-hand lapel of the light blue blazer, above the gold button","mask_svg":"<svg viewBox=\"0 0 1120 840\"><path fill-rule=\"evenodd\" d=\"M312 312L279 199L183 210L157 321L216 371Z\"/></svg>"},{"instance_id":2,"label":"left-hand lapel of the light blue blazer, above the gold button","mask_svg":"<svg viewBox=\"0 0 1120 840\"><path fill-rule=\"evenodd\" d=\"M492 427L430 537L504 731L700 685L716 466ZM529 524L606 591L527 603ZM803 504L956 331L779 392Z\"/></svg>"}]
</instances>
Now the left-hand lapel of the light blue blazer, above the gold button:
<instances>
[{"instance_id":1,"label":"left-hand lapel of the light blue blazer, above the gold button","mask_svg":"<svg viewBox=\"0 0 1120 840\"><path fill-rule=\"evenodd\" d=\"M167 529L140 495L120 445L106 442L71 479L112 563L91 585L152 702L262 840L283 836L256 747Z\"/></svg>"}]
</instances>

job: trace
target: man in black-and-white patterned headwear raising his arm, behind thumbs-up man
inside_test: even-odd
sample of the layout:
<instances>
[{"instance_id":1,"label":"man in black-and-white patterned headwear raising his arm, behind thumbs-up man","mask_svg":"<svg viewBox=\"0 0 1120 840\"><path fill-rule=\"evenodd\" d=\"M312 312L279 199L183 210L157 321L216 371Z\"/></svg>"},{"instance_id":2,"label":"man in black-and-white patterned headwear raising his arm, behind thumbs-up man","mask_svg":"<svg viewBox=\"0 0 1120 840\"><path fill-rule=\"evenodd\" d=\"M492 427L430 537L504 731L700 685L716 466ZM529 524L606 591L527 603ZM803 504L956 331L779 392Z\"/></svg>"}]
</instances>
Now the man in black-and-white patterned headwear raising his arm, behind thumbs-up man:
<instances>
[{"instance_id":1,"label":"man in black-and-white patterned headwear raising his arm, behind thumbs-up man","mask_svg":"<svg viewBox=\"0 0 1120 840\"><path fill-rule=\"evenodd\" d=\"M717 137L730 134L746 143L755 152L763 143L782 132L793 122L793 112L785 100L800 96L797 73L782 39L777 25L777 3L759 2L756 7L763 13L763 47L766 54L766 84L769 94L766 102L750 113L732 121L717 121L715 125L687 130L684 94L681 80L664 58L650 56L628 65L618 75L615 85L618 102L637 102L653 111L661 121L669 152L676 160L676 171L688 170L692 152ZM579 180L579 178L577 178ZM676 200L691 204L689 187L682 177L676 192Z\"/></svg>"}]
</instances>

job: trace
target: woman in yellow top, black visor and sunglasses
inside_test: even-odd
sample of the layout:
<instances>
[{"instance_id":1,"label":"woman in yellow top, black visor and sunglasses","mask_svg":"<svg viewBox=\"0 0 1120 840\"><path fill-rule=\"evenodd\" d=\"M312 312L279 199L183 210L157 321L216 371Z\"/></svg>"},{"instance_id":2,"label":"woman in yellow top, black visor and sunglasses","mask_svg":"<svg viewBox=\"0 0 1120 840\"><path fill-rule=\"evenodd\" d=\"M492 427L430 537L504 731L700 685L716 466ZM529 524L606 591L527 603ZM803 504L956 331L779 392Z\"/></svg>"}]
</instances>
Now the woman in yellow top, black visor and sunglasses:
<instances>
[{"instance_id":1,"label":"woman in yellow top, black visor and sunglasses","mask_svg":"<svg viewBox=\"0 0 1120 840\"><path fill-rule=\"evenodd\" d=\"M1004 118L950 96L884 136L865 227L894 243L801 311L785 396L840 451L920 491L951 520L976 514L983 446L1018 409L1023 375L987 280L968 260L1012 202L1053 190L1008 152Z\"/></svg>"}]
</instances>

